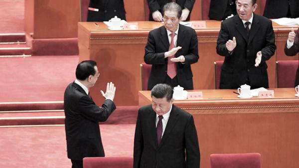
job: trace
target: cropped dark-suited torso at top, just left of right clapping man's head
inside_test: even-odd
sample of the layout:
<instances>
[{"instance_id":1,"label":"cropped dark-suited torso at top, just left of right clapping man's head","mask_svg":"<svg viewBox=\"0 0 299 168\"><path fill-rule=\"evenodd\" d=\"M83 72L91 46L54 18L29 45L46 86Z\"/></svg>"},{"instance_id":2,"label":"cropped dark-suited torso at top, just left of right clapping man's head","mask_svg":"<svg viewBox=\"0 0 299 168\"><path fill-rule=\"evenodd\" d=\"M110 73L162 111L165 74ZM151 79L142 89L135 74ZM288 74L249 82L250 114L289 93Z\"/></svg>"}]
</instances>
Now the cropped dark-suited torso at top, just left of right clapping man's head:
<instances>
[{"instance_id":1,"label":"cropped dark-suited torso at top, just left of right clapping man's head","mask_svg":"<svg viewBox=\"0 0 299 168\"><path fill-rule=\"evenodd\" d=\"M211 0L209 10L210 19L224 20L232 14L237 14L235 0Z\"/></svg>"}]
</instances>

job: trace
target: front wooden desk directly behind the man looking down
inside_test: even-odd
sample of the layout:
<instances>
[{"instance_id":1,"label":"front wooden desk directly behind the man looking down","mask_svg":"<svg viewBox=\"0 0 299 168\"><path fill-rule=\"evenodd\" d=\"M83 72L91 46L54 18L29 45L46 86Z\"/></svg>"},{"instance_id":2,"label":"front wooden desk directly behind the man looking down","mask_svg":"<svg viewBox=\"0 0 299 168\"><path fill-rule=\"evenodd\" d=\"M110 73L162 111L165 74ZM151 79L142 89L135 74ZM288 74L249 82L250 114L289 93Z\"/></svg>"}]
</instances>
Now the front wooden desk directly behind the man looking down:
<instances>
[{"instance_id":1,"label":"front wooden desk directly behind the man looking down","mask_svg":"<svg viewBox=\"0 0 299 168\"><path fill-rule=\"evenodd\" d=\"M261 154L261 168L299 168L299 98L294 88L273 90L271 99L239 99L236 90L200 90L203 100L174 101L194 117L200 168L210 168L211 154L252 152ZM139 91L139 105L150 103L150 91Z\"/></svg>"}]
</instances>

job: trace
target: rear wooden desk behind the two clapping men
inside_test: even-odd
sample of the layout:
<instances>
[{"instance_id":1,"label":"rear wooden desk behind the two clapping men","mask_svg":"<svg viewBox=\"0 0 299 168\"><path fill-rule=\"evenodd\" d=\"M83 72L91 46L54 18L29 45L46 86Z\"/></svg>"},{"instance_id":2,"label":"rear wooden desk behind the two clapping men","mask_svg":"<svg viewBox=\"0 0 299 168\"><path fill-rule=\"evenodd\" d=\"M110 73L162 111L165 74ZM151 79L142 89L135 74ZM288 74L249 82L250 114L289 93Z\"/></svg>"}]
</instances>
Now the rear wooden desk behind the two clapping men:
<instances>
[{"instance_id":1,"label":"rear wooden desk behind the two clapping men","mask_svg":"<svg viewBox=\"0 0 299 168\"><path fill-rule=\"evenodd\" d=\"M96 60L100 77L91 89L96 103L104 99L99 90L106 88L106 83L113 81L117 87L115 102L117 105L137 105L138 90L141 90L140 64L144 62L145 45L149 31L162 26L162 23L139 21L138 30L109 30L102 22L79 22L78 45L79 61ZM223 60L217 55L216 42L220 29L220 21L207 20L206 28L196 29L198 37L199 60L192 64L194 89L214 89L213 62ZM273 23L277 40L277 52L267 61L270 87L275 86L275 61L298 60L284 54L284 45L291 27ZM277 53L279 55L277 56Z\"/></svg>"}]
</instances>

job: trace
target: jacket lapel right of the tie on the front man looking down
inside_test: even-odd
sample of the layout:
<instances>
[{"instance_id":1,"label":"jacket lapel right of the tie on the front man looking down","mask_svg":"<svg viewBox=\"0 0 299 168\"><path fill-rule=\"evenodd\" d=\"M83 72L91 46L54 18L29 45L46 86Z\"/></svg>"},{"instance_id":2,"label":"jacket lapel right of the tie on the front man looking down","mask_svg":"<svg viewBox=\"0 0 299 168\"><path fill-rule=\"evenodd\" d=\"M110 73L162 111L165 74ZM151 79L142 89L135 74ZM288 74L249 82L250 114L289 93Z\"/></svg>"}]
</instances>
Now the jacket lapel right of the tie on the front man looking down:
<instances>
[{"instance_id":1,"label":"jacket lapel right of the tie on the front man looking down","mask_svg":"<svg viewBox=\"0 0 299 168\"><path fill-rule=\"evenodd\" d=\"M172 105L170 116L169 116L169 119L168 119L168 122L167 122L167 125L166 125L166 128L165 128L164 134L162 136L159 147L162 146L163 143L166 141L167 137L169 137L169 134L171 133L173 127L175 126L175 123L177 122L178 113L175 110L175 108L176 107L174 105Z\"/></svg>"}]
</instances>

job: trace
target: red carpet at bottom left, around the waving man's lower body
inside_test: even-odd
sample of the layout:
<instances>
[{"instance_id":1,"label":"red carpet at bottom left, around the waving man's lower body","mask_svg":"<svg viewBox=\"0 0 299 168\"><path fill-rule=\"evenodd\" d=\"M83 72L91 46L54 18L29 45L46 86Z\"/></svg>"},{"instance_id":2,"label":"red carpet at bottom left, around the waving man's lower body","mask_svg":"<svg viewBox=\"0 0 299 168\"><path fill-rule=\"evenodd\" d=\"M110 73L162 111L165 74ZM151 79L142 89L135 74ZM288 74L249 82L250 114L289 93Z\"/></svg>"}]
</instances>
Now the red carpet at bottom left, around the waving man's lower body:
<instances>
[{"instance_id":1,"label":"red carpet at bottom left, around the waving man's lower body","mask_svg":"<svg viewBox=\"0 0 299 168\"><path fill-rule=\"evenodd\" d=\"M134 124L100 129L107 157L133 157ZM0 133L0 168L71 168L64 126L0 128Z\"/></svg>"}]
</instances>

